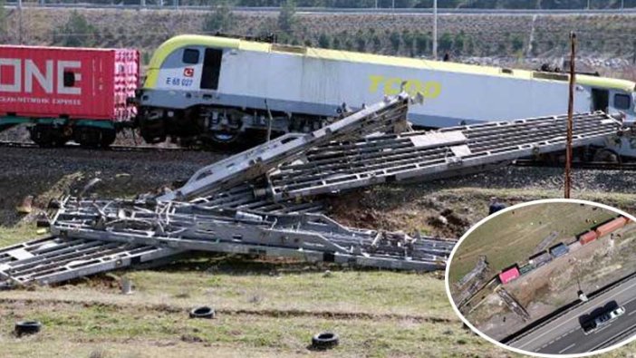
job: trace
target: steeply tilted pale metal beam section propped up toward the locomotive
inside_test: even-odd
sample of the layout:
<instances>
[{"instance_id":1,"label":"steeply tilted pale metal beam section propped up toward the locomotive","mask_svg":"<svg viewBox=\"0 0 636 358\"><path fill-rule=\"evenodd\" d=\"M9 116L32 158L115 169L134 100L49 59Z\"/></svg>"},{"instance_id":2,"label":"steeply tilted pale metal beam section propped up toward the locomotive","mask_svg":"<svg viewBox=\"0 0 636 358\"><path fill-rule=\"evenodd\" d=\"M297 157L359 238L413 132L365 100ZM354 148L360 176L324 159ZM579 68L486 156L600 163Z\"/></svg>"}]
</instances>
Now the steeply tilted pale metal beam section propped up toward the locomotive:
<instances>
[{"instance_id":1,"label":"steeply tilted pale metal beam section propped up toward the locomotive","mask_svg":"<svg viewBox=\"0 0 636 358\"><path fill-rule=\"evenodd\" d=\"M320 130L306 134L286 134L199 169L183 187L157 199L191 200L209 196L262 177L281 163L294 160L306 150L332 140L358 139L373 132L392 131L406 122L409 102L407 94L400 94L334 121Z\"/></svg>"}]
</instances>

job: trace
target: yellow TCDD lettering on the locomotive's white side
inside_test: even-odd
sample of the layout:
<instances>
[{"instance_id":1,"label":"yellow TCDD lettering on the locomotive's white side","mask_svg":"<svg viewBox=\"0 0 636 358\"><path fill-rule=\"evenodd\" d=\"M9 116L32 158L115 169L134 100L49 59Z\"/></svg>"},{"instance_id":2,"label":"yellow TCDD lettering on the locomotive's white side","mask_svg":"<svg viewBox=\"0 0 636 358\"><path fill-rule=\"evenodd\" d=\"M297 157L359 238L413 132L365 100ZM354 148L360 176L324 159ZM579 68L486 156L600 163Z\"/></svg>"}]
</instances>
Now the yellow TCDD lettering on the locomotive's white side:
<instances>
[{"instance_id":1,"label":"yellow TCDD lettering on the locomotive's white side","mask_svg":"<svg viewBox=\"0 0 636 358\"><path fill-rule=\"evenodd\" d=\"M402 85L404 91L411 96L421 93L424 98L434 99L441 94L441 83L437 81L419 81L416 79L402 79L400 77L385 77L378 74L369 76L371 84L369 92L383 92L385 95L392 96L400 93Z\"/></svg>"}]
</instances>

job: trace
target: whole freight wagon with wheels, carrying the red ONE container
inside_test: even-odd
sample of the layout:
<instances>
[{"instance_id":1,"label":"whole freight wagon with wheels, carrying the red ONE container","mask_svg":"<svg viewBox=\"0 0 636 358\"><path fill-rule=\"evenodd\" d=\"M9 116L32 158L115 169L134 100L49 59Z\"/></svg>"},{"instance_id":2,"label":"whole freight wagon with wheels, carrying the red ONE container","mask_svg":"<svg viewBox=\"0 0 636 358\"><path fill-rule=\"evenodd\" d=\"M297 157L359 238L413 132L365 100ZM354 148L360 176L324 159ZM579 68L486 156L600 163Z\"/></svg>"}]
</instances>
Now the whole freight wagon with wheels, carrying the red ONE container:
<instances>
[{"instance_id":1,"label":"whole freight wagon with wheels, carrying the red ONE container","mask_svg":"<svg viewBox=\"0 0 636 358\"><path fill-rule=\"evenodd\" d=\"M140 54L128 49L0 45L0 131L29 123L42 146L109 146L137 108Z\"/></svg>"}]
</instances>

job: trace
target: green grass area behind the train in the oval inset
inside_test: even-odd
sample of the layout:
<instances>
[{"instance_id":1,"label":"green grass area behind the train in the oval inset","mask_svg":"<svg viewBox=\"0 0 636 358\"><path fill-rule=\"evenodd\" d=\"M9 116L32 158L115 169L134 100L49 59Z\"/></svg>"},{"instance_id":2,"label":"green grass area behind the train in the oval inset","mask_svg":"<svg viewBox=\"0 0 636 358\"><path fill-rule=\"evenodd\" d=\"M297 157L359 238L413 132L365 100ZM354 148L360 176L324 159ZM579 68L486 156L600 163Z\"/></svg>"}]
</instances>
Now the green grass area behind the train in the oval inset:
<instances>
[{"instance_id":1,"label":"green grass area behind the train in the oval inset","mask_svg":"<svg viewBox=\"0 0 636 358\"><path fill-rule=\"evenodd\" d=\"M552 232L558 232L553 243L571 241L577 234L593 227L593 223L616 216L616 213L587 205L570 203L537 204L507 211L477 227L458 247L450 265L450 282L458 281L487 256L497 272L535 254L535 248ZM588 221L586 221L588 220Z\"/></svg>"}]
</instances>

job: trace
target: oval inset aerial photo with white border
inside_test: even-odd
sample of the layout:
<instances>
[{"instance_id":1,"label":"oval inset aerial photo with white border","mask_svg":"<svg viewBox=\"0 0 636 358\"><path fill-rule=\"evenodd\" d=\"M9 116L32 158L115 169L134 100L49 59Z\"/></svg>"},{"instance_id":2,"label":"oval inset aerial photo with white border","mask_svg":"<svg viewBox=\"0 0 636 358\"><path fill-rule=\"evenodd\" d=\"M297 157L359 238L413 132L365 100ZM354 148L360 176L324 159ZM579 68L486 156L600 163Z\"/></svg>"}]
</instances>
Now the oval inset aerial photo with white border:
<instances>
[{"instance_id":1,"label":"oval inset aerial photo with white border","mask_svg":"<svg viewBox=\"0 0 636 358\"><path fill-rule=\"evenodd\" d=\"M608 352L636 339L636 219L573 199L503 209L461 237L446 286L471 329L516 353Z\"/></svg>"}]
</instances>

